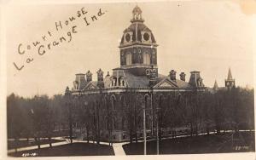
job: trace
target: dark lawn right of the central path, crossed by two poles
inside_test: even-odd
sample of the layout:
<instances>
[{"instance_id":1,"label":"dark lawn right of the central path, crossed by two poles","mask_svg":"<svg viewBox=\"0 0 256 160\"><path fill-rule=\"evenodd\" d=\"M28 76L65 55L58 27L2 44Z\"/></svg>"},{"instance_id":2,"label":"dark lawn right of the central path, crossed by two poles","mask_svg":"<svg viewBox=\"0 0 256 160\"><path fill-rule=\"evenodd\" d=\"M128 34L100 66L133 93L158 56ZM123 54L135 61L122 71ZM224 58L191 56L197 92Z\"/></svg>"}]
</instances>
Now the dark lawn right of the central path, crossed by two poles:
<instances>
[{"instance_id":1,"label":"dark lawn right of the central path, crossed by two poles","mask_svg":"<svg viewBox=\"0 0 256 160\"><path fill-rule=\"evenodd\" d=\"M160 141L160 154L200 154L255 151L254 132L210 134ZM233 144L233 147L232 147ZM242 147L241 147L242 146ZM126 155L142 155L143 142L123 146ZM147 154L156 154L156 141L147 142Z\"/></svg>"}]
</instances>

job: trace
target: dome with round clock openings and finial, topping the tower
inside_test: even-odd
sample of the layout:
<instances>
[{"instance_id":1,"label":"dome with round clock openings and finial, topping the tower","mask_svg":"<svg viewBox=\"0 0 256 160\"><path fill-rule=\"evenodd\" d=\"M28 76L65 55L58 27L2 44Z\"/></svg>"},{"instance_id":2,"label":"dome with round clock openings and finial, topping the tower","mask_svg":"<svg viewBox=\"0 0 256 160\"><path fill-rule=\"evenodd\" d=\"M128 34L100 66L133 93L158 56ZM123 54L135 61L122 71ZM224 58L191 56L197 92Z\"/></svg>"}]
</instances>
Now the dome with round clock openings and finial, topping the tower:
<instances>
[{"instance_id":1,"label":"dome with round clock openings and finial, topping the tower","mask_svg":"<svg viewBox=\"0 0 256 160\"><path fill-rule=\"evenodd\" d=\"M120 47L134 43L156 45L152 31L143 23L142 10L136 6L132 10L132 14L131 25L123 31L124 34L121 38Z\"/></svg>"}]
</instances>

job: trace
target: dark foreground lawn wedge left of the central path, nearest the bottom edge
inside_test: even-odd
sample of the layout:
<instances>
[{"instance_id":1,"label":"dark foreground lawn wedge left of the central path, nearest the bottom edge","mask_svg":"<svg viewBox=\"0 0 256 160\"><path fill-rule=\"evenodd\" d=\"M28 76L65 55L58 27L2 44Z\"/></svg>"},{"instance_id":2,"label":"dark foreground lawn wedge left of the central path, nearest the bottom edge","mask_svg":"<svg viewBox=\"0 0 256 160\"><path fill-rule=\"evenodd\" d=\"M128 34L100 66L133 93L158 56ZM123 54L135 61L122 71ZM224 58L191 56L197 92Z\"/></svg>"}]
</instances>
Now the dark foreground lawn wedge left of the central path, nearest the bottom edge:
<instances>
[{"instance_id":1,"label":"dark foreground lawn wedge left of the central path, nearest the bottom edge","mask_svg":"<svg viewBox=\"0 0 256 160\"><path fill-rule=\"evenodd\" d=\"M30 151L19 151L17 153L10 153L9 156L22 157L24 154L35 155L36 157L110 156L114 155L114 151L112 146L107 145L73 143Z\"/></svg>"}]
</instances>

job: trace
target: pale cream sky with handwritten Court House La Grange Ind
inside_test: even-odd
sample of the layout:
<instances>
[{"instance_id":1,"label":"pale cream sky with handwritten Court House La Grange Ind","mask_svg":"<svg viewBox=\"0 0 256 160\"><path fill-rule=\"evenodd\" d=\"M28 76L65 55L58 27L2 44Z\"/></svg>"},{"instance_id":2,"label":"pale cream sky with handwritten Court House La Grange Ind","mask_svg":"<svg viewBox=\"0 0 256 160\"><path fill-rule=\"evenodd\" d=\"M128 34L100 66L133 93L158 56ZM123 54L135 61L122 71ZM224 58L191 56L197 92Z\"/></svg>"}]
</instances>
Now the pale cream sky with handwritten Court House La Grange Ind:
<instances>
[{"instance_id":1,"label":"pale cream sky with handwritten Court House La Grange Ind","mask_svg":"<svg viewBox=\"0 0 256 160\"><path fill-rule=\"evenodd\" d=\"M255 2L251 4L255 7ZM143 10L144 24L153 31L159 44L161 74L168 75L172 69L178 74L184 71L188 81L190 71L201 71L207 87L212 87L215 80L223 87L230 67L237 86L253 86L256 8L251 4L241 1L8 4L4 8L7 94L24 97L64 94L67 86L73 87L76 73L90 70L96 80L99 68L104 75L112 72L119 66L119 41L131 24L131 11L136 5ZM78 17L82 8L87 14ZM97 15L99 9L104 13L101 16ZM92 21L92 15L97 20ZM72 16L76 20L66 26L65 21ZM55 22L59 21L62 29L56 31ZM70 42L53 46L60 37ZM33 46L37 41L40 43ZM38 54L40 45L44 45L40 54L45 49L42 55ZM18 68L24 67L19 71L14 63Z\"/></svg>"}]
</instances>

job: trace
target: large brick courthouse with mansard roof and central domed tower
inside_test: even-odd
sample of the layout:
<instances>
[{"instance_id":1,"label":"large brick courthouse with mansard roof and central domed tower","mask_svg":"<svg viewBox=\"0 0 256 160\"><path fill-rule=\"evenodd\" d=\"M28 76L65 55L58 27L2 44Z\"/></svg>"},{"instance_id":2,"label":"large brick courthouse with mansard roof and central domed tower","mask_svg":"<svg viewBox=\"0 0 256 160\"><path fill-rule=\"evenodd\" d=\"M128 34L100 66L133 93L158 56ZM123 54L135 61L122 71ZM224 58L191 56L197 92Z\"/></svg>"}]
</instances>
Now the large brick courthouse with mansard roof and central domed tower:
<instances>
[{"instance_id":1,"label":"large brick courthouse with mansard roof and central domed tower","mask_svg":"<svg viewBox=\"0 0 256 160\"><path fill-rule=\"evenodd\" d=\"M112 73L99 69L97 81L92 81L93 74L84 68L86 72L75 75L73 88L66 89L66 95L77 98L85 110L91 110L88 115L92 115L93 127L86 128L90 137L112 141L142 137L143 109L147 134L154 135L158 109L172 107L180 97L205 90L200 71L184 73L170 68L169 75L158 72L156 35L145 25L142 13L135 7L131 25L120 34L120 66L113 68ZM87 122L84 125L89 126ZM162 130L165 134L168 129Z\"/></svg>"}]
</instances>

